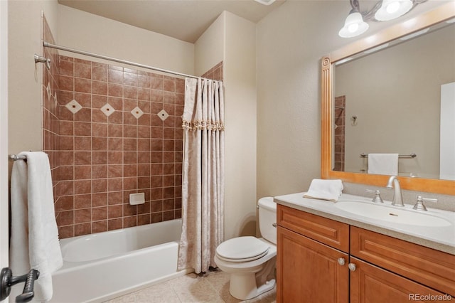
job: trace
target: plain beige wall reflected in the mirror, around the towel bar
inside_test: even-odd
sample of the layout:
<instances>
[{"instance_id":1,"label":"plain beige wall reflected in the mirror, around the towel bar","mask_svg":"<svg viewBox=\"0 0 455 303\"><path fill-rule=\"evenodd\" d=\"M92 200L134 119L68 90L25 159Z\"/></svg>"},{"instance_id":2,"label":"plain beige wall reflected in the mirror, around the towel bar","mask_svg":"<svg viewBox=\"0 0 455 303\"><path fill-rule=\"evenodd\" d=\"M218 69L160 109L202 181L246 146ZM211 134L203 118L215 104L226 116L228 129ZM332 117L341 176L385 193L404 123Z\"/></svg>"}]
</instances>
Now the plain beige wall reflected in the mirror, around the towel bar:
<instances>
[{"instance_id":1,"label":"plain beige wall reflected in the mirror, around the towel bar","mask_svg":"<svg viewBox=\"0 0 455 303\"><path fill-rule=\"evenodd\" d=\"M346 95L345 171L368 169L361 153L415 153L400 159L400 175L439 178L440 95L455 81L454 27L335 68L335 95Z\"/></svg>"}]
</instances>

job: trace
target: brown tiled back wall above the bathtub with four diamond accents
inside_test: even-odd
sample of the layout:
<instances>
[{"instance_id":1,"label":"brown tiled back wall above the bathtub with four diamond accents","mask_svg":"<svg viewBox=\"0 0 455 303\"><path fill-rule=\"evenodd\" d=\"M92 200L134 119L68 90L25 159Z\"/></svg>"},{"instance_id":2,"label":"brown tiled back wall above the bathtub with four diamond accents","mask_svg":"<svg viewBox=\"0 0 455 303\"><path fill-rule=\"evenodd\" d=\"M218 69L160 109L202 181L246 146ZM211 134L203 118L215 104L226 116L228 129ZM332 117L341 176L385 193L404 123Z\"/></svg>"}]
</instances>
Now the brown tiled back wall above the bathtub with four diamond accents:
<instances>
[{"instance_id":1,"label":"brown tiled back wall above the bathtub with four diamond accents","mask_svg":"<svg viewBox=\"0 0 455 303\"><path fill-rule=\"evenodd\" d=\"M181 218L184 80L58 60L60 238Z\"/></svg>"}]
</instances>

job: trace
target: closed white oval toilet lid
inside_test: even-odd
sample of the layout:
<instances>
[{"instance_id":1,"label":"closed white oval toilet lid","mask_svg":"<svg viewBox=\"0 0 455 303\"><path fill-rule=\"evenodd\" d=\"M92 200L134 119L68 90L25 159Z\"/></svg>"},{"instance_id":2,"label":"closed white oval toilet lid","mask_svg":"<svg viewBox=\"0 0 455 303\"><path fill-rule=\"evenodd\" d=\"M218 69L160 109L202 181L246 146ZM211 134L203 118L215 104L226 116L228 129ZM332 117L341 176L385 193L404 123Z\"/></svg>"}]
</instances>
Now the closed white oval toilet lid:
<instances>
[{"instance_id":1,"label":"closed white oval toilet lid","mask_svg":"<svg viewBox=\"0 0 455 303\"><path fill-rule=\"evenodd\" d=\"M230 262L247 262L267 255L269 245L255 237L238 237L227 240L216 248L218 257Z\"/></svg>"}]
</instances>

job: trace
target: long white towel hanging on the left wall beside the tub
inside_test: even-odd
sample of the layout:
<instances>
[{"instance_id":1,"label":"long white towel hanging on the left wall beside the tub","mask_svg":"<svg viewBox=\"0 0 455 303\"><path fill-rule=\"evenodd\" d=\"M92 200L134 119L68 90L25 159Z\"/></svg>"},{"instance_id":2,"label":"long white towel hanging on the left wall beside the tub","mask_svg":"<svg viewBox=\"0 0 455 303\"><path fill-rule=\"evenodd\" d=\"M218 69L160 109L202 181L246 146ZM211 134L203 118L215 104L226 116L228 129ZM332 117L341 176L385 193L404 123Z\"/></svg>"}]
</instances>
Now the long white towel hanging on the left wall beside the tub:
<instances>
[{"instance_id":1,"label":"long white towel hanging on the left wall beside the tub","mask_svg":"<svg viewBox=\"0 0 455 303\"><path fill-rule=\"evenodd\" d=\"M27 160L15 161L11 172L10 266L14 275L38 270L35 298L48 301L53 294L51 275L63 265L49 159L42 151L19 155Z\"/></svg>"}]
</instances>

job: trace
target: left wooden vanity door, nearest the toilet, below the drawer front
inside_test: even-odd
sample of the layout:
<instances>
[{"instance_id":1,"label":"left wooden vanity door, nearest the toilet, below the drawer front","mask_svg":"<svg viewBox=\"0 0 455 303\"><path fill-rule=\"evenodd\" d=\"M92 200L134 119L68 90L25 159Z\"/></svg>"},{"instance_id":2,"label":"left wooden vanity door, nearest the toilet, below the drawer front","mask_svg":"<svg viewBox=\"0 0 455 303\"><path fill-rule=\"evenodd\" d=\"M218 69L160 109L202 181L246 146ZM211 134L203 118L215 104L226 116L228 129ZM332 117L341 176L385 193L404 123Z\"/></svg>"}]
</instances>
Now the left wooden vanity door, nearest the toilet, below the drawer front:
<instances>
[{"instance_id":1,"label":"left wooden vanity door, nearest the toilet, below the drawer front","mask_svg":"<svg viewBox=\"0 0 455 303\"><path fill-rule=\"evenodd\" d=\"M347 303L348 287L346 253L277 227L277 302Z\"/></svg>"}]
</instances>

